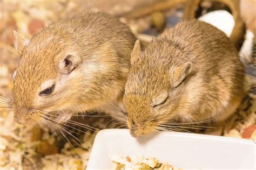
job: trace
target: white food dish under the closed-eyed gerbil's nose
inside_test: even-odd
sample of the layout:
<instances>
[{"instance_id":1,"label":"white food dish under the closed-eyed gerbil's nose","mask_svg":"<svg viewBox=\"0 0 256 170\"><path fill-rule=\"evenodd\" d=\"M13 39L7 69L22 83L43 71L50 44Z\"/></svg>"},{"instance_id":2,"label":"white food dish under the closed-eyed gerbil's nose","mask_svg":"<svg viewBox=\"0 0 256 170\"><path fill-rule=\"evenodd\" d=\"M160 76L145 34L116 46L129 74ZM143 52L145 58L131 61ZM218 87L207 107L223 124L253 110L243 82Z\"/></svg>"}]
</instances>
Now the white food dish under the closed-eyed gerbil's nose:
<instances>
[{"instance_id":1,"label":"white food dish under the closed-eyed gerbil's nose","mask_svg":"<svg viewBox=\"0 0 256 170\"><path fill-rule=\"evenodd\" d=\"M146 140L127 129L107 129L97 134L87 169L114 169L113 156L155 157L183 169L255 169L255 146L252 140L179 132Z\"/></svg>"}]
</instances>

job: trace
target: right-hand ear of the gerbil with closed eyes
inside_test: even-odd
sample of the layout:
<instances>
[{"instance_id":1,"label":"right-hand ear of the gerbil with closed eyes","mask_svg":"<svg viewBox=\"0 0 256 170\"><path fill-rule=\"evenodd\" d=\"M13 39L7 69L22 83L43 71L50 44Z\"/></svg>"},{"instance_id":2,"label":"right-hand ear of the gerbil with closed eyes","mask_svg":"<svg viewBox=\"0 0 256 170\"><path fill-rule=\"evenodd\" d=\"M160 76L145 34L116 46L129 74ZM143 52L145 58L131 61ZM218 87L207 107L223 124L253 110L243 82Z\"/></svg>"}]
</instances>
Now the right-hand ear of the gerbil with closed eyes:
<instances>
[{"instance_id":1,"label":"right-hand ear of the gerbil with closed eyes","mask_svg":"<svg viewBox=\"0 0 256 170\"><path fill-rule=\"evenodd\" d=\"M192 63L186 62L184 65L175 67L171 70L172 76L172 87L178 87L187 77L188 74L191 73Z\"/></svg>"}]
</instances>

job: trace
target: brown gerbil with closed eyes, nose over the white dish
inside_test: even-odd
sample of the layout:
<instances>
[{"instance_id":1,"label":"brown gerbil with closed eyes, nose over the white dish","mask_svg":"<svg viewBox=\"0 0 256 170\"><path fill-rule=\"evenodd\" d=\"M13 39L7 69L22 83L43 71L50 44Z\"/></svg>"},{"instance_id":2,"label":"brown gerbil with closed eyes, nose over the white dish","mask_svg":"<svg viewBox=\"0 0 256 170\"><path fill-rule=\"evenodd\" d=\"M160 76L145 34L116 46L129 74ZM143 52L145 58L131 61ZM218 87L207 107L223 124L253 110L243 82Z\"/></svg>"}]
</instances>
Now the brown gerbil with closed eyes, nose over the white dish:
<instances>
[{"instance_id":1,"label":"brown gerbil with closed eyes, nose over the white dish","mask_svg":"<svg viewBox=\"0 0 256 170\"><path fill-rule=\"evenodd\" d=\"M243 97L243 69L230 39L197 20L164 31L144 51L137 40L124 94L131 135L231 115Z\"/></svg>"}]
</instances>

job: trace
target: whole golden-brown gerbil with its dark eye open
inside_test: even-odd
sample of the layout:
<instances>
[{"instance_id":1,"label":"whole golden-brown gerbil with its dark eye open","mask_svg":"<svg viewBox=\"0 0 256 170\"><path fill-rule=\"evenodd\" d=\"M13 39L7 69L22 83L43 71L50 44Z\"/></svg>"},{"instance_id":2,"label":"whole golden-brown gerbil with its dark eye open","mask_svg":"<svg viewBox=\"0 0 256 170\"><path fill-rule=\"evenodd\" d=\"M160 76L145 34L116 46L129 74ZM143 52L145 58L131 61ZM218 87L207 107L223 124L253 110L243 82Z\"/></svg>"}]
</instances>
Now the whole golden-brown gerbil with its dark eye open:
<instances>
[{"instance_id":1,"label":"whole golden-brown gerbil with its dark eye open","mask_svg":"<svg viewBox=\"0 0 256 170\"><path fill-rule=\"evenodd\" d=\"M31 40L14 34L21 54L12 91L17 123L43 122L49 112L65 121L75 112L106 111L111 101L122 105L136 39L117 18L87 12Z\"/></svg>"}]
</instances>

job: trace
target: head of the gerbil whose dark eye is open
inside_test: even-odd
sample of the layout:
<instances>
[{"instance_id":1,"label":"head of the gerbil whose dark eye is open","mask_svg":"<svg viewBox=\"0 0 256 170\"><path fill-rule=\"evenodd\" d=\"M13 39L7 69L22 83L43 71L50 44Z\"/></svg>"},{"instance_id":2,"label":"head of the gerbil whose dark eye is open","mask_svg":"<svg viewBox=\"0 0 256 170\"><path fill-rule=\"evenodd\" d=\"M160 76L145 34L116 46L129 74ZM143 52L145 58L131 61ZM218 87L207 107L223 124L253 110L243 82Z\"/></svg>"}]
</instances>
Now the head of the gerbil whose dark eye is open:
<instances>
[{"instance_id":1,"label":"head of the gerbil whose dark eye is open","mask_svg":"<svg viewBox=\"0 0 256 170\"><path fill-rule=\"evenodd\" d=\"M74 89L81 90L78 69L82 60L70 39L45 32L30 41L15 31L14 37L21 54L13 74L15 121L37 123L50 112L63 111L76 103L79 96Z\"/></svg>"}]
</instances>

